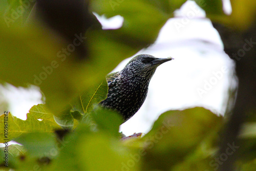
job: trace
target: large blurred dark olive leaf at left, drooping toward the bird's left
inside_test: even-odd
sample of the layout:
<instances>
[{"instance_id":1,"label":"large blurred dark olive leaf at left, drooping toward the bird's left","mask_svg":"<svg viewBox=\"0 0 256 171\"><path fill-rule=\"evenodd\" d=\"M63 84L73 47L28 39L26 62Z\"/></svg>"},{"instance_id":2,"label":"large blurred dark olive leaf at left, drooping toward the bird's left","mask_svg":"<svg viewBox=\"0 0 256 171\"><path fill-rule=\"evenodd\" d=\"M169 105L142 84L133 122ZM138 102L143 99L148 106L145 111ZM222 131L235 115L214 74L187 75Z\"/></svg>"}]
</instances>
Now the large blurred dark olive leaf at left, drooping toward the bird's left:
<instances>
[{"instance_id":1,"label":"large blurred dark olive leaf at left, drooping toward the bird's left","mask_svg":"<svg viewBox=\"0 0 256 171\"><path fill-rule=\"evenodd\" d=\"M0 62L3 67L0 79L16 87L28 87L29 83L40 86L47 105L51 109L54 106L54 111L58 112L76 92L76 84L69 82L72 76L67 74L65 62L57 55L58 51L61 52L61 44L57 44L49 32L46 34L46 30L34 26L6 29L1 24L0 45L3 51L0 52Z\"/></svg>"}]
</instances>

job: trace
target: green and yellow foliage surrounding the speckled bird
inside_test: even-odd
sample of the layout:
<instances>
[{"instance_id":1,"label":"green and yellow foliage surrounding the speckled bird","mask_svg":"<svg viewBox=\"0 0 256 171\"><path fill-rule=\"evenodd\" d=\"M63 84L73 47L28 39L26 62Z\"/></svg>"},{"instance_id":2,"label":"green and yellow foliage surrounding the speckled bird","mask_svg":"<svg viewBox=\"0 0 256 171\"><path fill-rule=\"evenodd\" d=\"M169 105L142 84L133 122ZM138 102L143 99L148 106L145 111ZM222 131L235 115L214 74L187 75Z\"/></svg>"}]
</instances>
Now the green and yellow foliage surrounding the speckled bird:
<instances>
[{"instance_id":1,"label":"green and yellow foliage surrounding the speckled bird","mask_svg":"<svg viewBox=\"0 0 256 171\"><path fill-rule=\"evenodd\" d=\"M67 52L72 45L67 45L65 37L40 24L40 18L33 16L34 1L1 2L0 80L16 87L35 84L45 95L46 103L33 106L27 120L8 114L8 137L0 132L0 142L4 143L0 150L0 168L218 169L220 133L226 122L223 117L203 108L167 111L144 137L121 141L118 133L121 117L97 105L108 93L104 76L122 59L153 44L167 19L173 17L173 12L184 2L91 1L90 10L106 17L121 15L124 23L117 30L92 26L74 35L73 38L81 42L79 46L88 51L84 59L79 59L72 50ZM249 27L256 16L253 0L231 1L230 16L223 13L220 0L196 2L210 19L242 30ZM24 11L20 11L22 9ZM5 116L0 116L0 125L5 124ZM60 135L59 130L68 130L68 133ZM240 137L244 146L239 146L242 157L237 162L241 170L255 170L255 154L250 153L255 149L255 134L254 123L244 125ZM6 138L22 145L7 147ZM4 162L6 150L8 167Z\"/></svg>"}]
</instances>

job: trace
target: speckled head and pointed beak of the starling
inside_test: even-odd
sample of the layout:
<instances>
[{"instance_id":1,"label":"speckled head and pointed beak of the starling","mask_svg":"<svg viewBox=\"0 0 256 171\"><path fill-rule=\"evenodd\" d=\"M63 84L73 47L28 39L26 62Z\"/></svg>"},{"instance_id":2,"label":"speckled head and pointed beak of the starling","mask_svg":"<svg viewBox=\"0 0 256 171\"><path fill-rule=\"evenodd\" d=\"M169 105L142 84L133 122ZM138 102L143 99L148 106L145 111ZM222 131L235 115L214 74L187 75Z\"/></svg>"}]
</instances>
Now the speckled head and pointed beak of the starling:
<instances>
[{"instance_id":1,"label":"speckled head and pointed beak of the starling","mask_svg":"<svg viewBox=\"0 0 256 171\"><path fill-rule=\"evenodd\" d=\"M156 71L156 68L162 63L174 58L156 58L152 55L141 54L132 58L122 70L125 73L131 73L133 75L145 75L146 73L152 73Z\"/></svg>"}]
</instances>

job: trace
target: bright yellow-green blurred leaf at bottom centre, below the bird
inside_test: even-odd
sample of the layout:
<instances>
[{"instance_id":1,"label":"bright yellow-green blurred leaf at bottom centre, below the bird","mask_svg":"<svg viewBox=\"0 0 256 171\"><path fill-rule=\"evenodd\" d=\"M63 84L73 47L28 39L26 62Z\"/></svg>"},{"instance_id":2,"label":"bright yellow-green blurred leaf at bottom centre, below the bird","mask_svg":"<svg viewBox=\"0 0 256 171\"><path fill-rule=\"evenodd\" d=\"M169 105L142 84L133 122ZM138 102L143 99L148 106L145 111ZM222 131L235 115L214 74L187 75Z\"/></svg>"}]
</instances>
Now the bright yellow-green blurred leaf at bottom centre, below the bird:
<instances>
[{"instance_id":1,"label":"bright yellow-green blurred leaf at bottom centre, below the bird","mask_svg":"<svg viewBox=\"0 0 256 171\"><path fill-rule=\"evenodd\" d=\"M121 146L118 140L102 134L83 137L77 151L83 169L88 170L138 170L139 162L131 155L134 152ZM93 160L92 160L93 159Z\"/></svg>"}]
</instances>

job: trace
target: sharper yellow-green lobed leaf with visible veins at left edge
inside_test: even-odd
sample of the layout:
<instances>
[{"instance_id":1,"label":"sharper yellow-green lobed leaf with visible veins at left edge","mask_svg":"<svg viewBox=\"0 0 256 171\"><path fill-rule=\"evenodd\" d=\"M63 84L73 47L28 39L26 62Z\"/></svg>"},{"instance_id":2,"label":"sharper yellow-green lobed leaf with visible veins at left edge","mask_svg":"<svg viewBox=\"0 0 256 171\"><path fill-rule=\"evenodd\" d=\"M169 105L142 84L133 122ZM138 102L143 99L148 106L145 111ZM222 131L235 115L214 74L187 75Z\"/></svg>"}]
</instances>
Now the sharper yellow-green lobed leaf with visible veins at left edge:
<instances>
[{"instance_id":1,"label":"sharper yellow-green lobed leaf with visible veins at left edge","mask_svg":"<svg viewBox=\"0 0 256 171\"><path fill-rule=\"evenodd\" d=\"M5 115L0 116L0 124L4 125ZM42 119L39 121L38 119ZM61 129L54 121L53 114L49 112L44 104L34 105L27 114L27 120L19 119L8 114L8 137L4 137L4 132L0 132L0 142L5 142L4 139L12 140L22 134L31 132L53 132Z\"/></svg>"}]
</instances>

